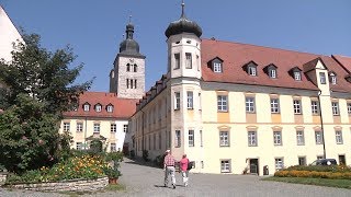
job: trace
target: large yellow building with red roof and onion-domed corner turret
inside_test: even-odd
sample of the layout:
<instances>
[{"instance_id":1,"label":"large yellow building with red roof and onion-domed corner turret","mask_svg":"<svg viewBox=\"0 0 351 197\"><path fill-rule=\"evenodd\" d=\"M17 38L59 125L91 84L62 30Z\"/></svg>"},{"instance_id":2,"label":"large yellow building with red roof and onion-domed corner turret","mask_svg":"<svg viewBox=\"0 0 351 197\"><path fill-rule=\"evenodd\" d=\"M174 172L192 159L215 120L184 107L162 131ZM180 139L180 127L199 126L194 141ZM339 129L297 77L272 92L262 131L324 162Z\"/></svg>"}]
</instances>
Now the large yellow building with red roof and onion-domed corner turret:
<instances>
[{"instance_id":1,"label":"large yellow building with red roof and onion-domed corner turret","mask_svg":"<svg viewBox=\"0 0 351 197\"><path fill-rule=\"evenodd\" d=\"M351 84L333 57L200 38L184 16L166 30L167 74L137 103L132 150L167 149L192 172L258 175L321 158L351 162Z\"/></svg>"}]
</instances>

